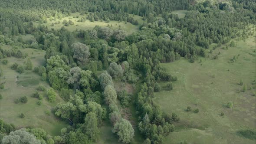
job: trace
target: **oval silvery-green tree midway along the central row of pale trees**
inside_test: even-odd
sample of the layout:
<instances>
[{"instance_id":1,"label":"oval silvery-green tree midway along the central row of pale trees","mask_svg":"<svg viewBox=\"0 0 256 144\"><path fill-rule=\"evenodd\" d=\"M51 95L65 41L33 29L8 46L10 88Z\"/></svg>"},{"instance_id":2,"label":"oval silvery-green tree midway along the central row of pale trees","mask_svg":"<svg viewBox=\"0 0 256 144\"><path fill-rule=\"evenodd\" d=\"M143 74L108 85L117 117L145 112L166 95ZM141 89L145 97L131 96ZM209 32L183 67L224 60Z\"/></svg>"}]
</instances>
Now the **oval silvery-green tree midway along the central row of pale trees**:
<instances>
[{"instance_id":1,"label":"oval silvery-green tree midway along the central row of pale trees","mask_svg":"<svg viewBox=\"0 0 256 144\"><path fill-rule=\"evenodd\" d=\"M109 104L110 102L115 102L117 99L117 95L115 92L115 88L112 85L107 85L104 89L104 97L105 102Z\"/></svg>"}]
</instances>

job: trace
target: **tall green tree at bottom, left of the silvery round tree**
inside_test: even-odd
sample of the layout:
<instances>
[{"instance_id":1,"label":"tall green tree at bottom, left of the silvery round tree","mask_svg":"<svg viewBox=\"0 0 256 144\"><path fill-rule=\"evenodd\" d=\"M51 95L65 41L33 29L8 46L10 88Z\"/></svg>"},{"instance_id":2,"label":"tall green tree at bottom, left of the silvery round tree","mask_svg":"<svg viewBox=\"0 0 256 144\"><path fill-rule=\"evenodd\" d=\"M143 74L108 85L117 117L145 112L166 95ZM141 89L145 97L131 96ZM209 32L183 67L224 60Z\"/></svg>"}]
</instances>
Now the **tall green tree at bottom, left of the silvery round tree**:
<instances>
[{"instance_id":1,"label":"tall green tree at bottom, left of the silvery round tree","mask_svg":"<svg viewBox=\"0 0 256 144\"><path fill-rule=\"evenodd\" d=\"M93 112L89 112L85 116L85 123L84 123L84 126L82 127L82 131L94 141L97 140L97 137L99 134L97 122L98 122L98 119L96 114Z\"/></svg>"}]
</instances>

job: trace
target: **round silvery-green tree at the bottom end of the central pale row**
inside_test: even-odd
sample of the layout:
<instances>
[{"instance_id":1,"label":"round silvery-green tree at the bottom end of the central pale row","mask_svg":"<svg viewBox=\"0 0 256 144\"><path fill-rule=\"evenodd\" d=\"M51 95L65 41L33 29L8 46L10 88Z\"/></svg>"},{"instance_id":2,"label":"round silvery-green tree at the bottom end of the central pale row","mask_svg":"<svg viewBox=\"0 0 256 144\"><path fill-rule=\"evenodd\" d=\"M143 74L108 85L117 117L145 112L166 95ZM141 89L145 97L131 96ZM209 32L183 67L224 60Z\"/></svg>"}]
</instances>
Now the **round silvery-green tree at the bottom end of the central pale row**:
<instances>
[{"instance_id":1,"label":"round silvery-green tree at the bottom end of the central pale row","mask_svg":"<svg viewBox=\"0 0 256 144\"><path fill-rule=\"evenodd\" d=\"M130 143L134 136L134 129L132 128L130 121L124 118L115 124L112 132L118 135L119 141L126 144Z\"/></svg>"}]
</instances>

